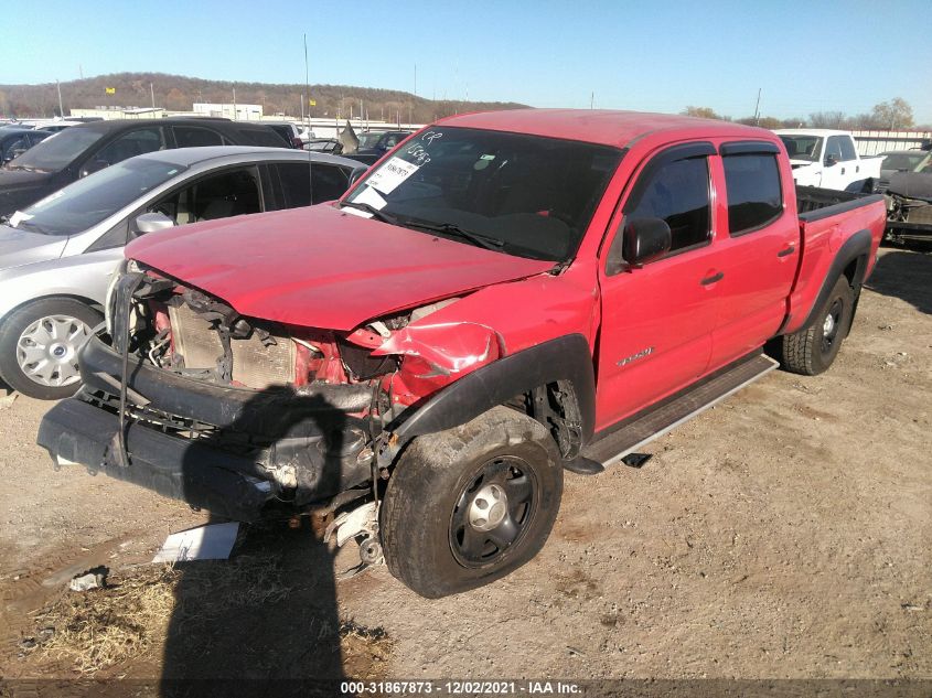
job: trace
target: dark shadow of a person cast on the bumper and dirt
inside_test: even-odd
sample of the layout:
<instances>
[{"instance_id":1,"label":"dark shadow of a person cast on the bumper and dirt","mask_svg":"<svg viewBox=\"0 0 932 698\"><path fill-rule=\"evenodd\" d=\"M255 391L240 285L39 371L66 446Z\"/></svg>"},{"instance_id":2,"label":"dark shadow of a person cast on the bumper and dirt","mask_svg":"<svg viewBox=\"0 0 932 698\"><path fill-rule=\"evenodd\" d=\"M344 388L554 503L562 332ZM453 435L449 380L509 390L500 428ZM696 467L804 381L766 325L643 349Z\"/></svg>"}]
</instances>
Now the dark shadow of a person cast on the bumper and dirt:
<instances>
[{"instance_id":1,"label":"dark shadow of a person cast on the bumper and dirt","mask_svg":"<svg viewBox=\"0 0 932 698\"><path fill-rule=\"evenodd\" d=\"M268 512L264 495L256 504L256 487L229 472L235 462L248 466L261 460L256 448L289 449L299 483L298 494L289 492L299 500L301 492L310 493L303 495L308 501L325 500L345 490L347 479L358 479L352 472L355 453L349 460L344 449L346 412L323 395L269 388L238 415L226 429L186 448L185 501L213 512L236 506L244 515L250 506ZM231 502L236 506L227 507ZM291 528L279 513L278 520L244 529L234 559L183 566L165 633L163 697L336 696L345 676L372 674L365 649L352 656L352 641L377 644L382 637L341 624L334 554L322 540L322 526L311 526L320 519L297 520L301 526ZM354 666L357 658L362 666Z\"/></svg>"}]
</instances>

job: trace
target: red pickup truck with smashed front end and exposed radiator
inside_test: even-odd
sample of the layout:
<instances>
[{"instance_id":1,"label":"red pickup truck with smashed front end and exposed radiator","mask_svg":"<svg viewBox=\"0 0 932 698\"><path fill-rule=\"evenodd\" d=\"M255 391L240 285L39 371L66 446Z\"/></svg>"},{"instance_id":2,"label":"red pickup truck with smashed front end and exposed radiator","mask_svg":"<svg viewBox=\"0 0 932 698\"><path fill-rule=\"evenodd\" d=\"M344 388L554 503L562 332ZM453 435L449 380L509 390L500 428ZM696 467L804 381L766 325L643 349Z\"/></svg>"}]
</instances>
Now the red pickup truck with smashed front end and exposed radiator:
<instances>
[{"instance_id":1,"label":"red pickup truck with smashed front end and exposed radiator","mask_svg":"<svg viewBox=\"0 0 932 698\"><path fill-rule=\"evenodd\" d=\"M39 443L235 519L339 513L418 593L474 588L540 549L565 470L763 375L764 344L832 364L886 212L824 198L763 129L443 119L339 202L130 245Z\"/></svg>"}]
</instances>

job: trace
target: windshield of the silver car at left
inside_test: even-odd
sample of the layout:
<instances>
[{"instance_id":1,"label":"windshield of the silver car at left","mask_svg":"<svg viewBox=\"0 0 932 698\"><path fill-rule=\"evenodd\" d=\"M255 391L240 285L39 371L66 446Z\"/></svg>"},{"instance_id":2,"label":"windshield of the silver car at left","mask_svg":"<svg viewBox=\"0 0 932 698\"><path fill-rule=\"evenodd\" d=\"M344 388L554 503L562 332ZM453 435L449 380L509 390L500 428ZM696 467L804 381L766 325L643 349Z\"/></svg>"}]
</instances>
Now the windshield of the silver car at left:
<instances>
[{"instance_id":1,"label":"windshield of the silver car at left","mask_svg":"<svg viewBox=\"0 0 932 698\"><path fill-rule=\"evenodd\" d=\"M46 235L75 235L131 204L188 168L136 158L78 180L14 216L17 226Z\"/></svg>"}]
</instances>

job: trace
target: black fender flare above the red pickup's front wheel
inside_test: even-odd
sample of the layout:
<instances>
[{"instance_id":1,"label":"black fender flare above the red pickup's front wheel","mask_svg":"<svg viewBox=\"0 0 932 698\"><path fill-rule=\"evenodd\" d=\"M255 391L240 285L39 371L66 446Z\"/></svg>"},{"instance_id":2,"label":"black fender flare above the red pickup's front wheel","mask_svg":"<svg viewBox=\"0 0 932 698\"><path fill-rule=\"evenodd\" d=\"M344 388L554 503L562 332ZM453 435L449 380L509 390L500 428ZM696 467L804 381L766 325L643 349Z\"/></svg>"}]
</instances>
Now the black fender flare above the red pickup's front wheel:
<instances>
[{"instance_id":1,"label":"black fender flare above the red pickup's front wheel","mask_svg":"<svg viewBox=\"0 0 932 698\"><path fill-rule=\"evenodd\" d=\"M533 388L572 384L582 427L582 443L596 429L596 374L589 342L581 334L542 342L476 368L401 415L389 431L401 442L464 425L496 405Z\"/></svg>"}]
</instances>

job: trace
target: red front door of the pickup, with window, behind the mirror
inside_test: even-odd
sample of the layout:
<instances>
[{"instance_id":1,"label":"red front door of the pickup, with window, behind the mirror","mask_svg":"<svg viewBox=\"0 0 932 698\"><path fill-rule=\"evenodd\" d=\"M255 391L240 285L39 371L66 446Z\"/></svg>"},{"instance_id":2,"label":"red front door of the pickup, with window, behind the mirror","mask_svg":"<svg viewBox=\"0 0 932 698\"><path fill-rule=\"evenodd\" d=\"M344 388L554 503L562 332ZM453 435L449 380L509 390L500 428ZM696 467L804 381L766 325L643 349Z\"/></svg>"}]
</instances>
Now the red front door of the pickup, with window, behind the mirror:
<instances>
[{"instance_id":1,"label":"red front door of the pickup, with window, behind the mirror","mask_svg":"<svg viewBox=\"0 0 932 698\"><path fill-rule=\"evenodd\" d=\"M714 245L708 142L654 154L613 222L655 217L673 234L669 253L639 269L600 265L602 325L598 347L598 429L685 387L705 373L711 353L721 255ZM609 249L609 246L606 247Z\"/></svg>"}]
</instances>

